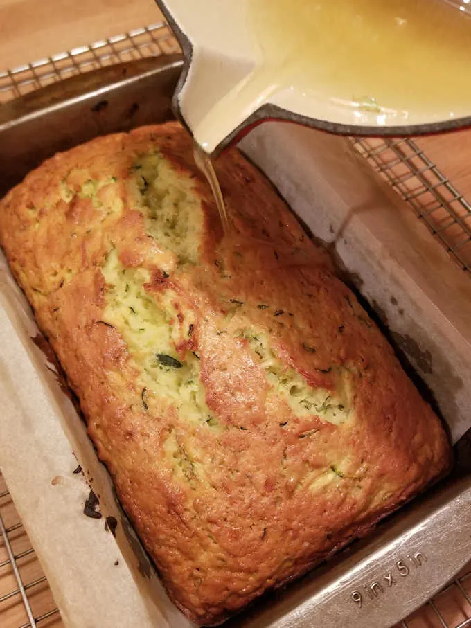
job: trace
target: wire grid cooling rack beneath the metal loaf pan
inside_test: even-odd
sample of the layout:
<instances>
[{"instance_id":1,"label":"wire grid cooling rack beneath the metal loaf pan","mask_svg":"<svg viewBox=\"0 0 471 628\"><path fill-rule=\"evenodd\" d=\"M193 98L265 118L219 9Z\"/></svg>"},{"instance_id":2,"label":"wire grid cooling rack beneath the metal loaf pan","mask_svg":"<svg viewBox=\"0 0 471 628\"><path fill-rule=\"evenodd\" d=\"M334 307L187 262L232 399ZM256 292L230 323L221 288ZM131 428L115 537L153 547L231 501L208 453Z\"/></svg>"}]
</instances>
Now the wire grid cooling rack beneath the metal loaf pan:
<instances>
[{"instance_id":1,"label":"wire grid cooling rack beneath the metal loaf pan","mask_svg":"<svg viewBox=\"0 0 471 628\"><path fill-rule=\"evenodd\" d=\"M179 51L167 24L152 24L0 71L0 105L69 76ZM471 273L471 206L412 140L352 140L360 154ZM0 626L62 628L42 568L0 474ZM471 628L471 564L397 628Z\"/></svg>"}]
</instances>

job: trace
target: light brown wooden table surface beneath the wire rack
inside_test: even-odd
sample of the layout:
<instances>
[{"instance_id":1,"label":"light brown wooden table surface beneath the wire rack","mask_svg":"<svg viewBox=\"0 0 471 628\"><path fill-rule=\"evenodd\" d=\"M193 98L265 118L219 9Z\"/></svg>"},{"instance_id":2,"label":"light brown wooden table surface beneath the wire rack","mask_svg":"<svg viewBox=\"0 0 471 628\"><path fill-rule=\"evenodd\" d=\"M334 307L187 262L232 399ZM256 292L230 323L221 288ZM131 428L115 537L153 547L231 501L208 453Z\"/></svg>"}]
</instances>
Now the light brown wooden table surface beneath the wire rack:
<instances>
[{"instance_id":1,"label":"light brown wooden table surface beneath the wire rack","mask_svg":"<svg viewBox=\"0 0 471 628\"><path fill-rule=\"evenodd\" d=\"M154 0L0 0L0 70L12 69L25 62L160 20L161 14ZM456 188L471 199L471 131L422 138L418 144L452 179ZM0 559L3 555L0 543ZM10 575L7 577L10 578ZM45 609L51 604L49 596L46 588L37 591L37 597L44 598ZM21 603L17 611L15 604L12 600L6 611L0 607L0 625L3 628L18 628L24 621ZM470 614L466 616L471 616L471 609L468 611ZM458 619L463 618L463 609L460 613ZM59 625L57 617L48 622L51 628ZM433 625L434 622L425 613L414 620L417 627Z\"/></svg>"}]
</instances>

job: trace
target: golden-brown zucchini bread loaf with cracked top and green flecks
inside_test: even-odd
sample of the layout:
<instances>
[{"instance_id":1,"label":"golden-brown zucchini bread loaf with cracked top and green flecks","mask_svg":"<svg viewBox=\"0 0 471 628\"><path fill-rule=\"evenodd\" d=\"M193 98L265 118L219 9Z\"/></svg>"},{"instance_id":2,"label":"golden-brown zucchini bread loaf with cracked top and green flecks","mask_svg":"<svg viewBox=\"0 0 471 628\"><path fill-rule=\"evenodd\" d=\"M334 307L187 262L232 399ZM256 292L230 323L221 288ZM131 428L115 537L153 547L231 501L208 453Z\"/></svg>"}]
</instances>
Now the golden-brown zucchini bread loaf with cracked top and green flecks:
<instances>
[{"instance_id":1,"label":"golden-brown zucchini bread loaf with cracked top and green flecks","mask_svg":"<svg viewBox=\"0 0 471 628\"><path fill-rule=\"evenodd\" d=\"M202 625L366 532L451 455L270 184L236 150L217 174L227 236L176 123L57 154L0 201L1 246L98 455Z\"/></svg>"}]
</instances>

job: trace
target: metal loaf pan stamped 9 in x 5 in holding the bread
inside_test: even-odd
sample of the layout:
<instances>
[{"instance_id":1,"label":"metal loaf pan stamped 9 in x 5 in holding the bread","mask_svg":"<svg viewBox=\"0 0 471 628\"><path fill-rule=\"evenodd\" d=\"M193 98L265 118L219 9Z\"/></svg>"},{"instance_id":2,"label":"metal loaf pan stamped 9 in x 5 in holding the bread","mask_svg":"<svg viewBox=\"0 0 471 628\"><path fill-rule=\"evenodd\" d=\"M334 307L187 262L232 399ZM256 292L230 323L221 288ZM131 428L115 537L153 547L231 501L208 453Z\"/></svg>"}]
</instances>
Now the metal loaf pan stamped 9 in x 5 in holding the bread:
<instances>
[{"instance_id":1,"label":"metal loaf pan stamped 9 in x 5 in holding the bread","mask_svg":"<svg viewBox=\"0 0 471 628\"><path fill-rule=\"evenodd\" d=\"M0 107L0 197L57 151L172 118L181 67L177 55L112 66ZM386 628L414 611L471 554L467 442L455 446L456 468L446 481L328 564L229 620L228 627Z\"/></svg>"}]
</instances>

